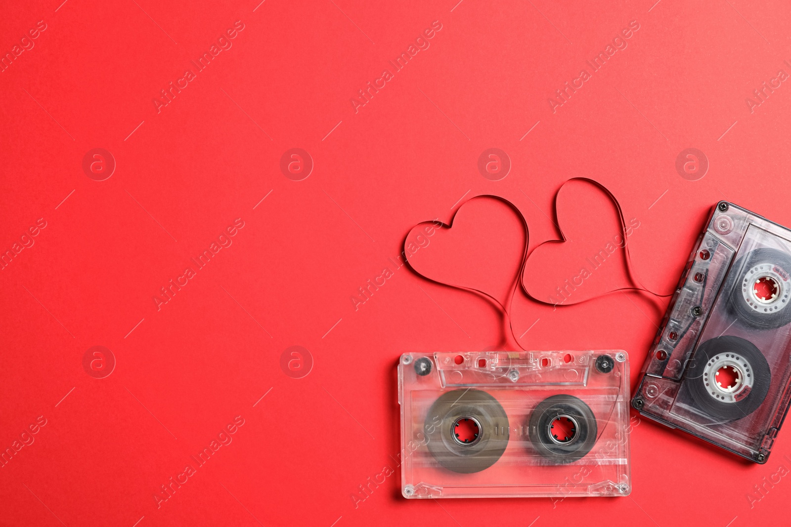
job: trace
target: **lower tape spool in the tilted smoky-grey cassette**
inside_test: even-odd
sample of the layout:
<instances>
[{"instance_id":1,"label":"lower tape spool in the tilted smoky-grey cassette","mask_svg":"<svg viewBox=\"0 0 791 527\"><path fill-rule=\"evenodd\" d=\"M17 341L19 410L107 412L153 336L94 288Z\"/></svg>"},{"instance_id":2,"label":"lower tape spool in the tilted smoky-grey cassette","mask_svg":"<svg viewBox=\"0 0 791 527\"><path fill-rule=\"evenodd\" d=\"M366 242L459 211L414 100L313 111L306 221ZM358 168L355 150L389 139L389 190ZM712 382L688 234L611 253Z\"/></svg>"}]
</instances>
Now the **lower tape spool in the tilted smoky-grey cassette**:
<instances>
[{"instance_id":1,"label":"lower tape spool in the tilted smoky-grey cassette","mask_svg":"<svg viewBox=\"0 0 791 527\"><path fill-rule=\"evenodd\" d=\"M685 384L698 410L728 422L755 412L770 382L769 363L761 350L741 337L726 335L698 346Z\"/></svg>"}]
</instances>

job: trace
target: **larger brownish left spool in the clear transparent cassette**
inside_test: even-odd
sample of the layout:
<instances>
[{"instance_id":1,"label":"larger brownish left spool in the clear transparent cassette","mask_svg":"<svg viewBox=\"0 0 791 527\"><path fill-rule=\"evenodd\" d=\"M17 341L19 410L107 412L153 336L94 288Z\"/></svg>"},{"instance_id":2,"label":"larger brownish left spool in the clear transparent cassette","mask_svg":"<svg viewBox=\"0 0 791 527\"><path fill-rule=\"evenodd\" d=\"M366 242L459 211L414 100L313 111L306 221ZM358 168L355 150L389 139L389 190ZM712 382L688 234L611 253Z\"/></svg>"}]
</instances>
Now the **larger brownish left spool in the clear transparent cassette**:
<instances>
[{"instance_id":1,"label":"larger brownish left spool in the clear transparent cassette","mask_svg":"<svg viewBox=\"0 0 791 527\"><path fill-rule=\"evenodd\" d=\"M505 409L482 390L443 393L429 408L424 430L434 459L462 474L488 469L508 446Z\"/></svg>"}]
</instances>

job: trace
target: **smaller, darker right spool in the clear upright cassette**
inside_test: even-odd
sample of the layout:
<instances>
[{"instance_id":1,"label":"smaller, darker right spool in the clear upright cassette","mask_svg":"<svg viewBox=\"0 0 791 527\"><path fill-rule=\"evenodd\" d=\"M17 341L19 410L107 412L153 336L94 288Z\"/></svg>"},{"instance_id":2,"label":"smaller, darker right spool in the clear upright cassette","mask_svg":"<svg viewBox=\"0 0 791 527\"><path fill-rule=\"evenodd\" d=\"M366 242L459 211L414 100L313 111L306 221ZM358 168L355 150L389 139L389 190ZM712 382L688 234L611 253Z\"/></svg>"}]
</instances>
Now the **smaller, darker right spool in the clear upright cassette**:
<instances>
[{"instance_id":1,"label":"smaller, darker right spool in the clear upright cassette","mask_svg":"<svg viewBox=\"0 0 791 527\"><path fill-rule=\"evenodd\" d=\"M553 465L585 457L596 444L596 431L596 416L591 408L566 393L541 401L528 420L530 441Z\"/></svg>"}]
</instances>

